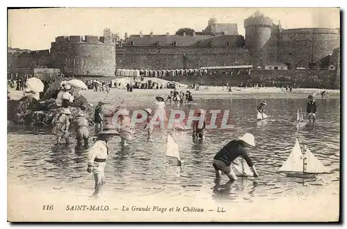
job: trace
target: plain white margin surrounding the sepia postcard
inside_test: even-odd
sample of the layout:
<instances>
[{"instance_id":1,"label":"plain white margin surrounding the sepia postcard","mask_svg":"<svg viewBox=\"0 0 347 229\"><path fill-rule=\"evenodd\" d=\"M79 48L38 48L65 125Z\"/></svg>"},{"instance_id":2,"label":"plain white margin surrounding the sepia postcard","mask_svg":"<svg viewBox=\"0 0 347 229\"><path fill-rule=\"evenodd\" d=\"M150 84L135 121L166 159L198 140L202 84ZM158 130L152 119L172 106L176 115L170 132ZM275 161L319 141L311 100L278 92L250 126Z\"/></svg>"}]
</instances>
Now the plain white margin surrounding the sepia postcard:
<instances>
[{"instance_id":1,"label":"plain white margin surrounding the sepia postcard","mask_svg":"<svg viewBox=\"0 0 347 229\"><path fill-rule=\"evenodd\" d=\"M248 0L248 1L196 1L196 0L174 0L174 1L143 1L143 0L132 0L132 1L83 1L83 3L73 3L71 0L60 0L60 1L1 1L1 5L5 5L6 3L10 3L11 7L21 7L21 6L45 6L45 7L341 7L342 10L346 10L346 2L347 1L337 1L337 0L330 0L330 1L303 1L303 0L290 0L290 1L276 1L276 0L267 0L267 1L255 1L255 0ZM7 33L7 11L6 7L8 6L2 6L1 7L1 28L3 31L6 31ZM346 17L346 15L345 15ZM346 25L344 24L343 28L341 28L341 31L345 31ZM3 79L1 80L1 87L3 87L3 96L0 100L2 105L1 107L5 108L7 107L7 103L5 101L5 94L4 92L7 90L6 88L6 54L7 49L5 46L5 43L7 44L7 37L4 34L0 37L1 39L1 73L3 76ZM341 50L342 55L344 54L344 50ZM345 66L346 60L344 60L341 65ZM342 76L341 76L342 77ZM346 88L347 80L344 80L343 87ZM341 87L342 89L342 87ZM346 93L344 93L344 101L346 102ZM341 105L341 108L344 108L344 105ZM3 111L3 114L6 116L5 111ZM344 119L346 119L346 115L344 114ZM3 176L0 177L1 184L2 184L2 195L1 195L1 228L10 228L10 224L6 223L7 221L7 127L5 126L5 120L0 122L0 130L1 130L1 156L3 157L3 162L1 169ZM347 142L346 136L344 139L341 139L341 142ZM342 154L344 154L345 151L341 151ZM346 158L347 156L344 155L344 162L343 164L346 165ZM341 176L343 178L344 176ZM346 210L345 210L346 211ZM246 212L245 212L246 214ZM5 222L5 223L4 223ZM46 227L47 225L41 225L40 227ZM93 228L101 228L103 225L52 225L55 227L64 227L64 228L73 228L74 227L85 227L85 226L92 226ZM124 227L124 225L115 225L117 227ZM149 225L147 227L152 227L153 225ZM176 225L179 227L186 227L185 225ZM212 226L212 225L198 225L198 227L201 226ZM213 225L215 226L215 224ZM219 227L232 227L232 228L241 228L241 226L237 225L220 225ZM284 225L275 225L275 226L284 226ZM306 225L307 226L307 225ZM312 225L316 226L316 225ZM326 225L323 225L324 227ZM24 225L17 225L18 228L23 228ZM28 227L27 225L25 227ZM29 226L31 228L38 228L38 225L31 225ZM131 227L134 227L132 225ZM160 226L162 227L162 226ZM168 226L167 226L168 227ZM251 225L244 225L244 227L251 227ZM267 225L264 225L264 227L268 227ZM303 226L299 225L291 225L289 227L293 228L301 228ZM332 226L331 226L332 227Z\"/></svg>"}]
</instances>

